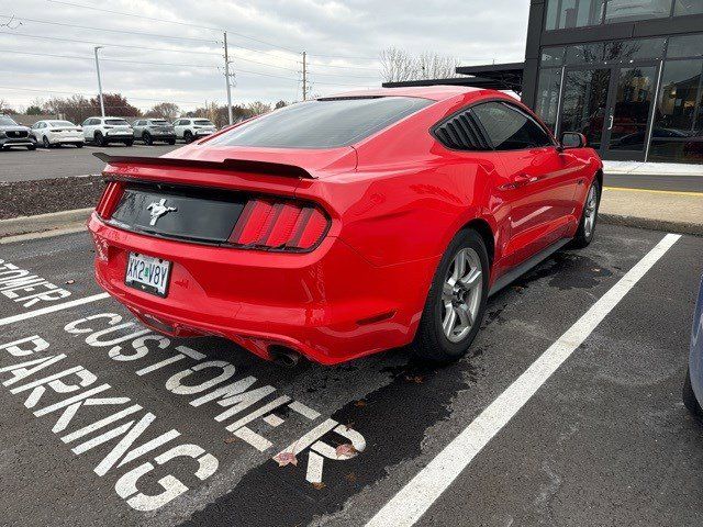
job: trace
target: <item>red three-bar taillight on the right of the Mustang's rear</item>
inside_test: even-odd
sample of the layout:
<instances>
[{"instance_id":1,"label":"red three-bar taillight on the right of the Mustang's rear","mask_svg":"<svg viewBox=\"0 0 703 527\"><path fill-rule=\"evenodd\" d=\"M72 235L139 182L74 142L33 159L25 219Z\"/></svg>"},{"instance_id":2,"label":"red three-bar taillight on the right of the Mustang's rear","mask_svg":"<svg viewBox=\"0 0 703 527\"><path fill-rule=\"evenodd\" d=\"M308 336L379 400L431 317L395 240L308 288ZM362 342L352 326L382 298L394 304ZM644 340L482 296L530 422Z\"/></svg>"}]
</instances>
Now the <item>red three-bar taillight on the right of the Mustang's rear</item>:
<instances>
[{"instance_id":1,"label":"red three-bar taillight on the right of the Mustang's rear","mask_svg":"<svg viewBox=\"0 0 703 527\"><path fill-rule=\"evenodd\" d=\"M309 250L330 227L330 217L310 203L249 200L237 220L230 243L252 248Z\"/></svg>"}]
</instances>

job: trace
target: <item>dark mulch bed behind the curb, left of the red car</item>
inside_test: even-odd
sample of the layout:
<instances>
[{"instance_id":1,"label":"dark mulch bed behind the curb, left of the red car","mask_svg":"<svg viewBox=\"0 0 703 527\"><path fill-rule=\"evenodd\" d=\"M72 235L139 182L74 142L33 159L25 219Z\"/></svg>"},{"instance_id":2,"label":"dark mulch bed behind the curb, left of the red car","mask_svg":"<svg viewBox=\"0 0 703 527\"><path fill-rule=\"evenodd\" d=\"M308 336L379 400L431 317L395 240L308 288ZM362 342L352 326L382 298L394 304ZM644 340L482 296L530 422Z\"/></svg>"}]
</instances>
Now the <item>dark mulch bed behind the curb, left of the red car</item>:
<instances>
[{"instance_id":1,"label":"dark mulch bed behind the curb, left of the red car","mask_svg":"<svg viewBox=\"0 0 703 527\"><path fill-rule=\"evenodd\" d=\"M103 189L101 176L0 181L0 220L94 206Z\"/></svg>"}]
</instances>

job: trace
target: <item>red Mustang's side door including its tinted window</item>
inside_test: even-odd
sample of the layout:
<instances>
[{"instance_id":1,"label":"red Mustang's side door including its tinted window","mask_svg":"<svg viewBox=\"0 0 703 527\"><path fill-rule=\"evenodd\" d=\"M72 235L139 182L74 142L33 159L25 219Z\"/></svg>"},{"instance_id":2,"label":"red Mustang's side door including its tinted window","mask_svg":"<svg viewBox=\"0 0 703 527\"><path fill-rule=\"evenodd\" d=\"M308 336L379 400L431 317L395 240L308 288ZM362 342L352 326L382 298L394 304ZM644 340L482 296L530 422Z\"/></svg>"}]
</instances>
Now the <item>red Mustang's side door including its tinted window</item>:
<instances>
[{"instance_id":1,"label":"red Mustang's side door including its tinted window","mask_svg":"<svg viewBox=\"0 0 703 527\"><path fill-rule=\"evenodd\" d=\"M577 178L551 135L529 113L507 101L472 109L500 156L506 183L498 192L510 202L512 265L559 240L572 218Z\"/></svg>"}]
</instances>

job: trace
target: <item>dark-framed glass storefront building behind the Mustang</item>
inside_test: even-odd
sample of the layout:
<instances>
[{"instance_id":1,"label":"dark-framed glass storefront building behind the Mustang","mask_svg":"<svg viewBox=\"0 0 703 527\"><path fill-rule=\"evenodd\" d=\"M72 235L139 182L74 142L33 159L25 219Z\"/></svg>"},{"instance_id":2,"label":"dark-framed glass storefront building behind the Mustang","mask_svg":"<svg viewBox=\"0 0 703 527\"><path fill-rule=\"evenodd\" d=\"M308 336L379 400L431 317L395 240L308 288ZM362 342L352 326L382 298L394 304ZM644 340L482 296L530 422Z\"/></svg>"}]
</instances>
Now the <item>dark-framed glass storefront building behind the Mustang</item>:
<instances>
[{"instance_id":1,"label":"dark-framed glass storefront building behind the Mustang","mask_svg":"<svg viewBox=\"0 0 703 527\"><path fill-rule=\"evenodd\" d=\"M533 0L522 97L604 159L703 162L703 0Z\"/></svg>"}]
</instances>

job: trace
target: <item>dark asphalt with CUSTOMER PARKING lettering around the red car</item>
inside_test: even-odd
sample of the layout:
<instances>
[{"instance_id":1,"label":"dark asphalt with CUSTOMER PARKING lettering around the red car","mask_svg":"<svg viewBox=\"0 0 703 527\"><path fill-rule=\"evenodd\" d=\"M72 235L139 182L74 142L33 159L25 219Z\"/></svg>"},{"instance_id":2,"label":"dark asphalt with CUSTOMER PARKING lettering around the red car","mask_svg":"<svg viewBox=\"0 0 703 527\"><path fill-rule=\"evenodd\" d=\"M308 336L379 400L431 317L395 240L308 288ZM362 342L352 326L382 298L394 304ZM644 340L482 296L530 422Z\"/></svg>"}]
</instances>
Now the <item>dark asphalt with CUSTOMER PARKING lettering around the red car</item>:
<instances>
[{"instance_id":1,"label":"dark asphalt with CUSTOMER PARKING lettering around the red car","mask_svg":"<svg viewBox=\"0 0 703 527\"><path fill-rule=\"evenodd\" d=\"M703 238L665 238L631 279L662 238L600 225L493 296L471 356L438 369L402 349L281 369L159 338L100 294L86 234L0 245L0 267L36 277L0 270L2 523L365 525L595 310L484 448L451 458L417 525L701 525L703 434L680 391Z\"/></svg>"}]
</instances>

